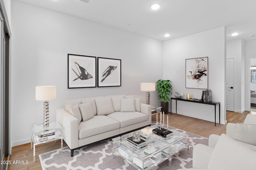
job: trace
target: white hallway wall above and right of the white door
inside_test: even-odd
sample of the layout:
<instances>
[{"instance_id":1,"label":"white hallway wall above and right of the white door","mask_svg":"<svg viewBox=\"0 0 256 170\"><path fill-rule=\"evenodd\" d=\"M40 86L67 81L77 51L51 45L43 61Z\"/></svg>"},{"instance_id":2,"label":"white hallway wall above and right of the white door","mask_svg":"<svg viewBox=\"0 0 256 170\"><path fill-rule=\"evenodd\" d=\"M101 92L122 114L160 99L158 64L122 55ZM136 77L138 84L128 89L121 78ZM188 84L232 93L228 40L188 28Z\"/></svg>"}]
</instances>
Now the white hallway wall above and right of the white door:
<instances>
[{"instance_id":1,"label":"white hallway wall above and right of the white door","mask_svg":"<svg viewBox=\"0 0 256 170\"><path fill-rule=\"evenodd\" d=\"M226 58L234 59L234 111L238 113L245 111L244 44L241 39L226 43Z\"/></svg>"}]
</instances>

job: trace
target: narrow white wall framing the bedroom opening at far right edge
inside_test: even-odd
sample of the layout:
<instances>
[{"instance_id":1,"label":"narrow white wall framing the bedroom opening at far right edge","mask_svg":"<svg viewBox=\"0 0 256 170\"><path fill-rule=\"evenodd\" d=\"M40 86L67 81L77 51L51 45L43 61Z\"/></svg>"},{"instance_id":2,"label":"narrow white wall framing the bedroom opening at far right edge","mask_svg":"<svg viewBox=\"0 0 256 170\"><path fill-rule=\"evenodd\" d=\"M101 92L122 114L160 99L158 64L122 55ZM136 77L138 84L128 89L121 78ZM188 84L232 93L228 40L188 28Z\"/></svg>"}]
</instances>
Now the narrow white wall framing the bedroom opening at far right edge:
<instances>
[{"instance_id":1,"label":"narrow white wall framing the bedroom opening at far right edge","mask_svg":"<svg viewBox=\"0 0 256 170\"><path fill-rule=\"evenodd\" d=\"M256 59L256 40L245 42L245 109L250 111L250 60Z\"/></svg>"}]
</instances>

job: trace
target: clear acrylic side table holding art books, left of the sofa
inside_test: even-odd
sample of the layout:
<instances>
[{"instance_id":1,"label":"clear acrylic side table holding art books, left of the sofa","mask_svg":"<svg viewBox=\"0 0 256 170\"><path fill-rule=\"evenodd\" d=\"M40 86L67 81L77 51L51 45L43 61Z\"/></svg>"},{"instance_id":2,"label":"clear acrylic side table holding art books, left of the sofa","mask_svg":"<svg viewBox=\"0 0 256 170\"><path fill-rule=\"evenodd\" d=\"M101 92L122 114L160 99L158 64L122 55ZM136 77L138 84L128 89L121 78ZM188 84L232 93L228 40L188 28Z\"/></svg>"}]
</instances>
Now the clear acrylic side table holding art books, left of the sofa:
<instances>
[{"instance_id":1,"label":"clear acrylic side table holding art books, left of the sofa","mask_svg":"<svg viewBox=\"0 0 256 170\"><path fill-rule=\"evenodd\" d=\"M44 123L31 125L31 149L33 143L34 162L36 162L36 145L61 139L61 150L63 148L62 127L56 122L50 122L47 131L44 131ZM63 152L63 151L62 151Z\"/></svg>"}]
</instances>

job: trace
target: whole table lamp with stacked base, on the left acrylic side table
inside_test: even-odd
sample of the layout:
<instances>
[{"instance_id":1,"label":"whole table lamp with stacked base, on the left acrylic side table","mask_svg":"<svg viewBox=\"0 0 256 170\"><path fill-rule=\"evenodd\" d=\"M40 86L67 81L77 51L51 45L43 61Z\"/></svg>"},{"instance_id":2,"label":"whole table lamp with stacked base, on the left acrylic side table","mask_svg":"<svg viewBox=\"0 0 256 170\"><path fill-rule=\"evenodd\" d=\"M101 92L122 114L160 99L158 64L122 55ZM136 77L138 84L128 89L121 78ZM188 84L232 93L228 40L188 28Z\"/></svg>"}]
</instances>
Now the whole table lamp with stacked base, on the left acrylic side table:
<instances>
[{"instance_id":1,"label":"whole table lamp with stacked base, on the left acrylic side table","mask_svg":"<svg viewBox=\"0 0 256 170\"><path fill-rule=\"evenodd\" d=\"M44 102L44 131L49 127L49 102L56 99L56 86L36 86L36 100Z\"/></svg>"}]
</instances>

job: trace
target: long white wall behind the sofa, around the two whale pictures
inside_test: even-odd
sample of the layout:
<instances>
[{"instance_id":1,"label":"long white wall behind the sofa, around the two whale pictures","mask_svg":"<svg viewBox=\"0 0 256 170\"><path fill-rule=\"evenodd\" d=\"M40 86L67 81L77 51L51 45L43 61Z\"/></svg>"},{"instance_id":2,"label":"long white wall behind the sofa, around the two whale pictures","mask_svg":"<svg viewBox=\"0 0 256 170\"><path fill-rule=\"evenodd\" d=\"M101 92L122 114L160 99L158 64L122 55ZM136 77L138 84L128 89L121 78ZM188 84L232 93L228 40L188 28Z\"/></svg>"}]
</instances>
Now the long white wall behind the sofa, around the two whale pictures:
<instances>
[{"instance_id":1,"label":"long white wall behind the sofa, around the two whale pictures","mask_svg":"<svg viewBox=\"0 0 256 170\"><path fill-rule=\"evenodd\" d=\"M141 82L162 78L162 42L22 2L12 2L12 146L30 142L30 124L42 123L43 101L35 86L56 85L50 121L65 99L135 94L145 103ZM122 60L122 86L67 88L67 54ZM151 104L159 105L157 92Z\"/></svg>"}]
</instances>

